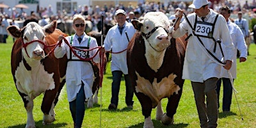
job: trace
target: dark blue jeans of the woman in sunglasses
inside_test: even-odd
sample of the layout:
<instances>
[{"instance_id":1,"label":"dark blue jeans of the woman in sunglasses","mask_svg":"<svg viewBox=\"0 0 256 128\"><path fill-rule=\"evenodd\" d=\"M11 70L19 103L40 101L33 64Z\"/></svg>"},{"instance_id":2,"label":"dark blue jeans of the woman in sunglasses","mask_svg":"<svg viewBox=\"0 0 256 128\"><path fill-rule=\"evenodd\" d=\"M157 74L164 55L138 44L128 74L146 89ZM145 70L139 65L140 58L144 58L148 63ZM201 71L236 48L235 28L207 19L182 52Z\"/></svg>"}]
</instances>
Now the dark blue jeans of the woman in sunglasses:
<instances>
[{"instance_id":1,"label":"dark blue jeans of the woman in sunglasses","mask_svg":"<svg viewBox=\"0 0 256 128\"><path fill-rule=\"evenodd\" d=\"M82 126L84 119L84 111L85 111L85 95L84 95L84 83L82 82L81 89L76 95L76 99L72 102L69 102L69 109L71 111L71 115L74 123L76 124L76 128Z\"/></svg>"}]
</instances>

